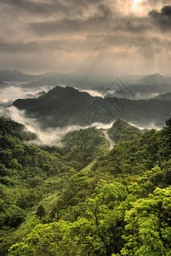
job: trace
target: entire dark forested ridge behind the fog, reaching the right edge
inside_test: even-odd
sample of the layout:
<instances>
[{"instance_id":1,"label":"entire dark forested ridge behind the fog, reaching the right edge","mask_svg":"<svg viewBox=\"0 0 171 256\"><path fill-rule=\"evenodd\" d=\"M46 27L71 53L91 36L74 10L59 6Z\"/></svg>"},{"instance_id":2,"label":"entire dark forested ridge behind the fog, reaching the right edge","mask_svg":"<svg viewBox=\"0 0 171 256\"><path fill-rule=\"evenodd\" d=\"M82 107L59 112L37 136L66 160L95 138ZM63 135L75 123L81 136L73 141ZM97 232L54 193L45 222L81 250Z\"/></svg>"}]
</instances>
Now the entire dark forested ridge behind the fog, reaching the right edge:
<instances>
[{"instance_id":1,"label":"entire dark forested ridge behind the fog, reaching the right edge","mask_svg":"<svg viewBox=\"0 0 171 256\"><path fill-rule=\"evenodd\" d=\"M16 100L16 108L26 109L26 115L37 118L45 126L89 125L109 123L121 118L128 122L162 126L170 116L171 101L161 99L128 100L101 98L79 92L72 87L55 87L37 99Z\"/></svg>"}]
</instances>

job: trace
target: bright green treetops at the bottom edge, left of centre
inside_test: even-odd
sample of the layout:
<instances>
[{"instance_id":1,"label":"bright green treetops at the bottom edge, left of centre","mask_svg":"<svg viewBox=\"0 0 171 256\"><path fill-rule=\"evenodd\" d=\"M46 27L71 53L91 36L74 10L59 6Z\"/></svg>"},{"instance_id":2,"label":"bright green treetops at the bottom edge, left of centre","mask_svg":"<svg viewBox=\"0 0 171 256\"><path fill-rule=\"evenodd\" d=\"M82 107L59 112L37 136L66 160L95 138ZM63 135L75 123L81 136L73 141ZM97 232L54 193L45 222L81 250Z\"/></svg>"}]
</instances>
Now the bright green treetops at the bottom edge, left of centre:
<instances>
[{"instance_id":1,"label":"bright green treetops at the bottom edge, left of centre","mask_svg":"<svg viewBox=\"0 0 171 256\"><path fill-rule=\"evenodd\" d=\"M75 253L73 241L66 238L67 223L37 224L25 241L9 249L10 256L82 255ZM83 254L84 255L84 254Z\"/></svg>"}]
</instances>

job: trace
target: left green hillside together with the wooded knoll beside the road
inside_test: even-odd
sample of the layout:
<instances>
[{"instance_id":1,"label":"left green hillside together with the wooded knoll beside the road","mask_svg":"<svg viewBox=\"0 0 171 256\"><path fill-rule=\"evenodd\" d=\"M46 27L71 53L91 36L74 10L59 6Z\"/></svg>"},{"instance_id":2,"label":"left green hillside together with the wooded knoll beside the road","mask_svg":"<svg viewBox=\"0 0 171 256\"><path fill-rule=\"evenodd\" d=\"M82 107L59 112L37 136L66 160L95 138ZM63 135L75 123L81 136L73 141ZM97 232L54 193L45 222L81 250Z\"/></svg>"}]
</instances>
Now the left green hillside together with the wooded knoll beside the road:
<instances>
[{"instance_id":1,"label":"left green hillside together with the wooded knoll beside the road","mask_svg":"<svg viewBox=\"0 0 171 256\"><path fill-rule=\"evenodd\" d=\"M107 150L105 139L100 137L102 131L95 128L67 134L61 148L43 149L23 142L36 138L24 128L0 118L1 255L7 255L10 244L29 232L27 226L24 233L21 228L18 234L20 224L29 225L31 216L34 226L38 218L45 216L41 201L59 193L69 177Z\"/></svg>"}]
</instances>

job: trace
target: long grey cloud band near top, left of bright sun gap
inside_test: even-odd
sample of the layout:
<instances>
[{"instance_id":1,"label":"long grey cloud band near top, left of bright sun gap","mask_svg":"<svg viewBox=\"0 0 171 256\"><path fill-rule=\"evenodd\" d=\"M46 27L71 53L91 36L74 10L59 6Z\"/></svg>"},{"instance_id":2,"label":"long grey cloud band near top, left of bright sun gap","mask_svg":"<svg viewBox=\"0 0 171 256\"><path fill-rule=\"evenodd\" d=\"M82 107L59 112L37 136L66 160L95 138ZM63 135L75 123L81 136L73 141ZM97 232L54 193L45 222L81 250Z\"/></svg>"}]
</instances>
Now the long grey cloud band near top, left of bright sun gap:
<instances>
[{"instance_id":1,"label":"long grey cloud band near top, left of bright sun gap","mask_svg":"<svg viewBox=\"0 0 171 256\"><path fill-rule=\"evenodd\" d=\"M111 20L111 16L111 9L105 4L100 4L93 15L90 13L88 16L79 16L77 18L68 18L65 15L65 18L31 22L29 27L42 37L56 32L60 33L60 35L73 32L94 32L94 30L96 32L104 32L104 26L106 28L108 25L108 28L110 28L108 22Z\"/></svg>"}]
</instances>

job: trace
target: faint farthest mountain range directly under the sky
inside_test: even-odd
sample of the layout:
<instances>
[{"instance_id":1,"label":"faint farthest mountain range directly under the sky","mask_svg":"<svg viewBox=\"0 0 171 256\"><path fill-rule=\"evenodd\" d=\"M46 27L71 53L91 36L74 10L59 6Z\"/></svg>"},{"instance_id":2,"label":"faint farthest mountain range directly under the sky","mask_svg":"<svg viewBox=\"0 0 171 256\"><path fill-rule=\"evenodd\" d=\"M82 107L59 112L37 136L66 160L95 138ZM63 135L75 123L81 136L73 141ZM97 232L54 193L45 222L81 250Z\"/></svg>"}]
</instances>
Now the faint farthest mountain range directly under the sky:
<instances>
[{"instance_id":1,"label":"faint farthest mountain range directly under the sky","mask_svg":"<svg viewBox=\"0 0 171 256\"><path fill-rule=\"evenodd\" d=\"M159 73L151 75L125 75L118 77L123 83L130 84L171 84L171 76L164 77ZM0 81L25 82L23 86L40 87L44 84L58 85L66 84L70 86L79 86L80 88L97 88L108 87L110 83L115 81L117 77L111 76L88 76L79 75L77 73L43 73L38 75L30 75L20 73L16 70L0 69ZM30 82L30 83L29 83Z\"/></svg>"}]
</instances>

